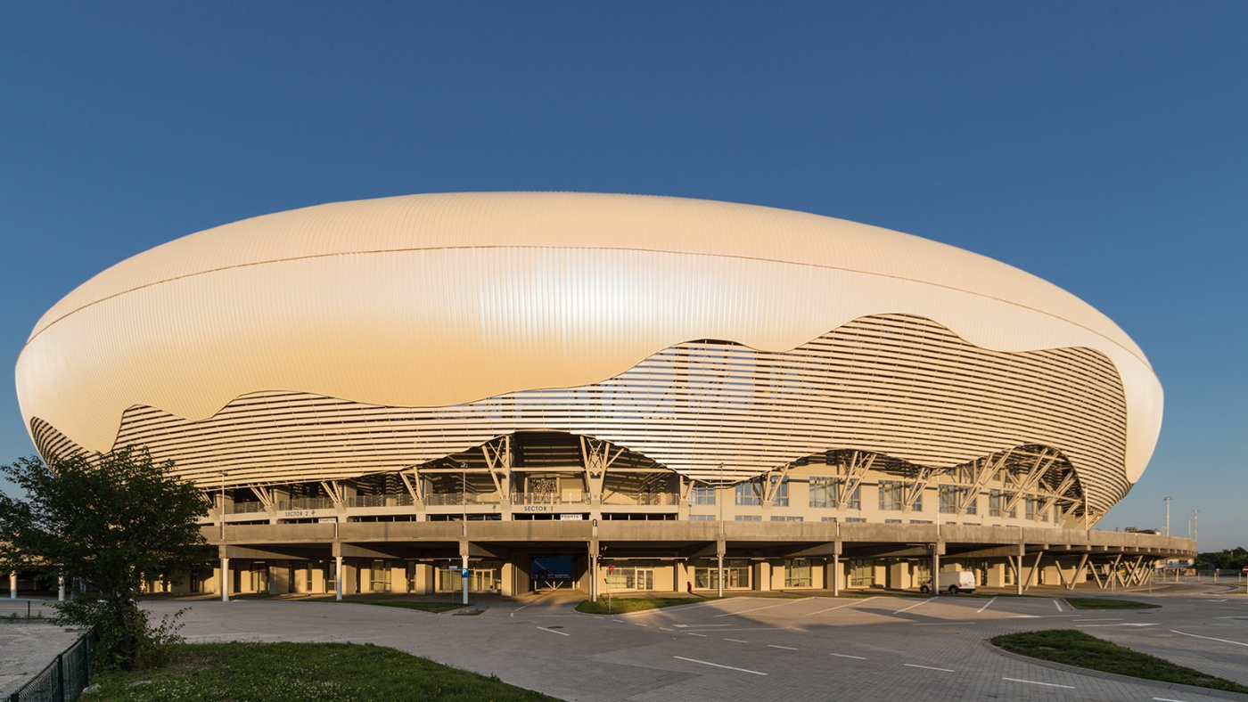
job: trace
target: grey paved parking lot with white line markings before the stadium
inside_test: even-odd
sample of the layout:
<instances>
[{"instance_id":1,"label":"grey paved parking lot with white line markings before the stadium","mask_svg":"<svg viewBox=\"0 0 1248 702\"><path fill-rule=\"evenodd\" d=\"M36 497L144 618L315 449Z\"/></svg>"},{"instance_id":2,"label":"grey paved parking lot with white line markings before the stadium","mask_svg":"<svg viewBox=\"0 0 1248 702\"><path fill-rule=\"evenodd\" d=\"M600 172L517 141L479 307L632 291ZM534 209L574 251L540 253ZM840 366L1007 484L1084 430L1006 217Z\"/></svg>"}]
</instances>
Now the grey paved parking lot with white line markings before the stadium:
<instances>
[{"instance_id":1,"label":"grey paved parking lot with white line markings before the stadium","mask_svg":"<svg viewBox=\"0 0 1248 702\"><path fill-rule=\"evenodd\" d=\"M577 701L1212 700L1006 657L997 633L1076 627L1248 685L1248 597L1172 590L1161 610L1073 611L1053 597L734 597L622 616L582 594L494 601L479 616L298 601L191 602L191 641L351 641L495 673ZM1080 592L1080 595L1087 595ZM1118 595L1122 597L1122 595ZM149 606L166 613L188 602Z\"/></svg>"}]
</instances>

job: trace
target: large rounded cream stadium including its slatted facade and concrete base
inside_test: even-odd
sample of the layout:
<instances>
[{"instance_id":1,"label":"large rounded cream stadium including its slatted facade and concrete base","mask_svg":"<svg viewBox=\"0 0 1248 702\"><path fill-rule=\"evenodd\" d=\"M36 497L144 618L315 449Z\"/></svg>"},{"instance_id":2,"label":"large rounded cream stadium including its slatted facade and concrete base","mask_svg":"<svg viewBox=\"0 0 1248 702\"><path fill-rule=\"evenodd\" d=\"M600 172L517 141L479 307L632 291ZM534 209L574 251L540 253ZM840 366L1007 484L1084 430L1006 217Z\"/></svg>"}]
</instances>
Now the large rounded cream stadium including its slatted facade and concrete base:
<instances>
[{"instance_id":1,"label":"large rounded cream stadium including its slatted facade and concrete base","mask_svg":"<svg viewBox=\"0 0 1248 702\"><path fill-rule=\"evenodd\" d=\"M16 368L46 460L147 446L231 594L1138 585L1093 529L1162 389L1112 320L946 244L666 197L307 207L124 261ZM154 584L161 589L160 584Z\"/></svg>"}]
</instances>

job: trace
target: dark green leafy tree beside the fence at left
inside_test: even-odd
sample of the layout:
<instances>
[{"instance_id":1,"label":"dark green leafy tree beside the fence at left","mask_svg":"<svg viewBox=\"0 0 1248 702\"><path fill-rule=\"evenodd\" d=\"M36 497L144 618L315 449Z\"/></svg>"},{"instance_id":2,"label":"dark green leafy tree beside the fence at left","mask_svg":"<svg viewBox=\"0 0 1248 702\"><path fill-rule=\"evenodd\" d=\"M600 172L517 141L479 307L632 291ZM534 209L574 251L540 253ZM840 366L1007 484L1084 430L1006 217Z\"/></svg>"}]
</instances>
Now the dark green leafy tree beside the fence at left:
<instances>
[{"instance_id":1,"label":"dark green leafy tree beside the fence at left","mask_svg":"<svg viewBox=\"0 0 1248 702\"><path fill-rule=\"evenodd\" d=\"M196 525L207 502L172 468L154 464L145 448L0 466L26 495L0 495L0 572L34 571L42 582L61 574L82 579L86 592L57 608L61 621L96 627L102 670L162 662L176 625L147 620L139 607L142 582L176 581L207 562Z\"/></svg>"}]
</instances>

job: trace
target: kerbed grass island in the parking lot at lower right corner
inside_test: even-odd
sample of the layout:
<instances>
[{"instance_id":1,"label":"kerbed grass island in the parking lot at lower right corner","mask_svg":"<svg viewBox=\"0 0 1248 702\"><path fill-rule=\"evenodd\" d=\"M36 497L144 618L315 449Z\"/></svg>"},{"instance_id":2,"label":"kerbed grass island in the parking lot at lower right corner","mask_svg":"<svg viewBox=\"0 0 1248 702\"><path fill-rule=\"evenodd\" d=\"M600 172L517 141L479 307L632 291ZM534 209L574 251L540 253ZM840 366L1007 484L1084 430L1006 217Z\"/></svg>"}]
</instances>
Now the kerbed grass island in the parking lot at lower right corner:
<instances>
[{"instance_id":1,"label":"kerbed grass island in the parking lot at lower right corner","mask_svg":"<svg viewBox=\"0 0 1248 702\"><path fill-rule=\"evenodd\" d=\"M1177 666L1163 658L1141 653L1071 628L1007 633L992 638L992 645L1020 656L1080 668L1211 687L1228 692L1248 692L1248 687L1237 682Z\"/></svg>"}]
</instances>

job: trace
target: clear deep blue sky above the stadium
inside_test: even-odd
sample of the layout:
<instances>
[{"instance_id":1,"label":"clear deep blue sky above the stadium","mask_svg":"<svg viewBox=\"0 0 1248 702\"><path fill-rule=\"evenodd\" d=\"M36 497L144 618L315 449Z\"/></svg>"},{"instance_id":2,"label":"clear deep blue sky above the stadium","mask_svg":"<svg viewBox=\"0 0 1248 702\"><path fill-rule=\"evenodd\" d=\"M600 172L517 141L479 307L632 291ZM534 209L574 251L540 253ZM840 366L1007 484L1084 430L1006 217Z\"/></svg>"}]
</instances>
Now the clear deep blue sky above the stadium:
<instances>
[{"instance_id":1,"label":"clear deep blue sky above the stadium","mask_svg":"<svg viewBox=\"0 0 1248 702\"><path fill-rule=\"evenodd\" d=\"M726 200L1078 294L1166 388L1103 527L1248 546L1246 2L0 5L0 365L101 269L433 191ZM11 389L0 461L34 453Z\"/></svg>"}]
</instances>

